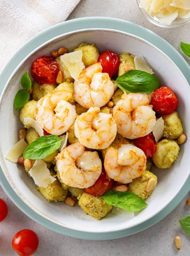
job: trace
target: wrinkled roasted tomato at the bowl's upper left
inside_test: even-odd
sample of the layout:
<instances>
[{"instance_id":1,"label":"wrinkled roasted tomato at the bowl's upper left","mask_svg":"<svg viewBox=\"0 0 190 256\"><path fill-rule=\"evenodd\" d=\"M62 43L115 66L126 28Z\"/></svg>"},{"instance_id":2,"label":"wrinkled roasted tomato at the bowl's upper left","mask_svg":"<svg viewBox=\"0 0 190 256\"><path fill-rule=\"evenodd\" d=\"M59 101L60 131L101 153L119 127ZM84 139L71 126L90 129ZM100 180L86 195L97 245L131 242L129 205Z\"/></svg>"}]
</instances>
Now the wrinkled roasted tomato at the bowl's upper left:
<instances>
[{"instance_id":1,"label":"wrinkled roasted tomato at the bowl's upper left","mask_svg":"<svg viewBox=\"0 0 190 256\"><path fill-rule=\"evenodd\" d=\"M39 85L54 84L58 71L58 62L53 57L43 56L33 62L31 75Z\"/></svg>"}]
</instances>

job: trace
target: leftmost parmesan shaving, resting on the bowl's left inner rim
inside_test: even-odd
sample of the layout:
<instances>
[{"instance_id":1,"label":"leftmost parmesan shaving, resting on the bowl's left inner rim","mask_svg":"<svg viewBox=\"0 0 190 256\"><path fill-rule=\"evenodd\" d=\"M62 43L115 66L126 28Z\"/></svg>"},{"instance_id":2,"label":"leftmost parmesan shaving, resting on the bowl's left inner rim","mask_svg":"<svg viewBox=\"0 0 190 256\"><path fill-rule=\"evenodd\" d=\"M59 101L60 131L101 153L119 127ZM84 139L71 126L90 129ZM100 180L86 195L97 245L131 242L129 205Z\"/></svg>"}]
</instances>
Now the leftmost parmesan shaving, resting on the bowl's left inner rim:
<instances>
[{"instance_id":1,"label":"leftmost parmesan shaving, resting on the bowl's left inner rim","mask_svg":"<svg viewBox=\"0 0 190 256\"><path fill-rule=\"evenodd\" d=\"M29 145L26 143L25 140L19 140L13 147L11 147L11 149L9 149L7 155L5 156L5 159L12 163L16 163L19 156L24 153L28 146Z\"/></svg>"}]
</instances>

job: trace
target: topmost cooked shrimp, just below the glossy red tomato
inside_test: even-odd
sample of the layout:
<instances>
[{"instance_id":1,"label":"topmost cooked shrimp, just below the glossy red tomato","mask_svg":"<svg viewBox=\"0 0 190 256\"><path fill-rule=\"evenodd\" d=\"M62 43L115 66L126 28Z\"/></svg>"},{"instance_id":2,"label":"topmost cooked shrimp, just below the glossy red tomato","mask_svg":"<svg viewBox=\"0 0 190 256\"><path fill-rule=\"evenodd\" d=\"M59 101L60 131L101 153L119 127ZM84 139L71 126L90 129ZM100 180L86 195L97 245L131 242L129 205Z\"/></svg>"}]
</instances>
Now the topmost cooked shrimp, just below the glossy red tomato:
<instances>
[{"instance_id":1,"label":"topmost cooked shrimp, just below the glossy red tomato","mask_svg":"<svg viewBox=\"0 0 190 256\"><path fill-rule=\"evenodd\" d=\"M106 105L114 93L114 84L107 73L102 73L101 63L82 70L74 82L74 99L85 108Z\"/></svg>"}]
</instances>

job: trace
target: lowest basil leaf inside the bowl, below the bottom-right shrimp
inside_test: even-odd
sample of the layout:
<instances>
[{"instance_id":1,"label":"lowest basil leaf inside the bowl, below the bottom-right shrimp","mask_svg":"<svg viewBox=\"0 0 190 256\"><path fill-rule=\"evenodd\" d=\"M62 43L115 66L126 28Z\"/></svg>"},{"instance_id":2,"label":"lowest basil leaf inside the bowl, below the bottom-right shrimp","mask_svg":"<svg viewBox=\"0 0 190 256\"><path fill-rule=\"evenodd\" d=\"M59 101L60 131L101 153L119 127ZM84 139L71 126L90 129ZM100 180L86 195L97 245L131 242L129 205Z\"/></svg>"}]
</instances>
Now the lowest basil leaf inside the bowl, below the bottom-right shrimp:
<instances>
[{"instance_id":1,"label":"lowest basil leaf inside the bowl, below the bottom-right shrimp","mask_svg":"<svg viewBox=\"0 0 190 256\"><path fill-rule=\"evenodd\" d=\"M110 190L100 196L109 205L123 208L127 211L139 211L147 206L147 203L138 195L131 192L118 192Z\"/></svg>"}]
</instances>

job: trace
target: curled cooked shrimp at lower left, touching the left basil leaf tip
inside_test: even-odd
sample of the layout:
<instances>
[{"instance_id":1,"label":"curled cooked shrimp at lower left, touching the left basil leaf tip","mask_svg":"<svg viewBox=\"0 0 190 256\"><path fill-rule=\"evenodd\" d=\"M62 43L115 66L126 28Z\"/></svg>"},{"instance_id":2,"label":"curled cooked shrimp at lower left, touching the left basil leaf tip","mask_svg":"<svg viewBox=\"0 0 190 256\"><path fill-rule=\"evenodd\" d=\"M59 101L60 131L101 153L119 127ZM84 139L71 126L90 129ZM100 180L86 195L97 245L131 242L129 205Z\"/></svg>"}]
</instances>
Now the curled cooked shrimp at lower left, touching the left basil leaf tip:
<instances>
[{"instance_id":1,"label":"curled cooked shrimp at lower left, touching the left basil leaf tip","mask_svg":"<svg viewBox=\"0 0 190 256\"><path fill-rule=\"evenodd\" d=\"M59 177L68 186L92 186L102 172L102 162L98 153L85 151L85 147L79 142L65 147L55 159Z\"/></svg>"}]
</instances>

